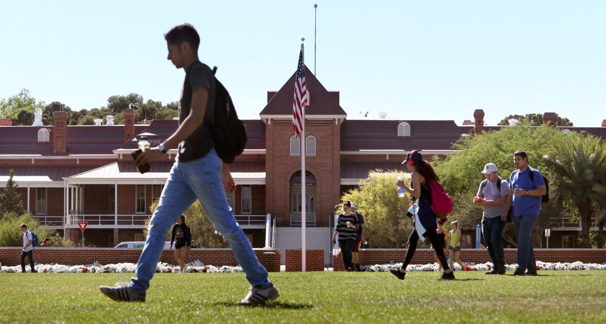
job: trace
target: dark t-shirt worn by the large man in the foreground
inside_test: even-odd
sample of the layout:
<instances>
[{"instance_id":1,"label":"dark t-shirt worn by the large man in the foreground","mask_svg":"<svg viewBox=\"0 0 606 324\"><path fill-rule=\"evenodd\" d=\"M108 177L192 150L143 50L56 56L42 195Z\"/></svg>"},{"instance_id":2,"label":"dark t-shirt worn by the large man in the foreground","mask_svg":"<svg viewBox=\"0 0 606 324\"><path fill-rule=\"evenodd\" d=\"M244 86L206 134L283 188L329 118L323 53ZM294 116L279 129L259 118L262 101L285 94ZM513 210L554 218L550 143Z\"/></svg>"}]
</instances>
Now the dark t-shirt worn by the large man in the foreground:
<instances>
[{"instance_id":1,"label":"dark t-shirt worn by the large man in the foreground","mask_svg":"<svg viewBox=\"0 0 606 324\"><path fill-rule=\"evenodd\" d=\"M208 132L208 125L213 123L215 110L215 76L210 68L200 61L193 62L185 73L181 100L179 100L179 124L189 116L191 97L199 87L208 89L204 124L194 130L185 141L179 143L179 161L198 160L215 147L210 132Z\"/></svg>"}]
</instances>

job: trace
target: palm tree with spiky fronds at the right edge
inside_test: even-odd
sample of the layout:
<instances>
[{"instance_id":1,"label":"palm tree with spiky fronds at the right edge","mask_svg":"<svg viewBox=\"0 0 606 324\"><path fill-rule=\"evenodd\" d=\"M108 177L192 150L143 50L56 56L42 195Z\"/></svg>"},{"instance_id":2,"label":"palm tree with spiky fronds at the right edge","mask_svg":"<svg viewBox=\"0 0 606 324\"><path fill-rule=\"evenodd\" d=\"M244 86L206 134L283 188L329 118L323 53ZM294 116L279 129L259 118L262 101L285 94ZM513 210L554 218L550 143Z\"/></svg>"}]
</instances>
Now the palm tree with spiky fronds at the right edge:
<instances>
[{"instance_id":1,"label":"palm tree with spiky fronds at the right edge","mask_svg":"<svg viewBox=\"0 0 606 324\"><path fill-rule=\"evenodd\" d=\"M601 182L606 164L606 145L601 138L587 133L569 133L556 147L553 156L545 155L545 163L554 171L559 192L572 201L581 216L582 246L590 248L592 191Z\"/></svg>"}]
</instances>

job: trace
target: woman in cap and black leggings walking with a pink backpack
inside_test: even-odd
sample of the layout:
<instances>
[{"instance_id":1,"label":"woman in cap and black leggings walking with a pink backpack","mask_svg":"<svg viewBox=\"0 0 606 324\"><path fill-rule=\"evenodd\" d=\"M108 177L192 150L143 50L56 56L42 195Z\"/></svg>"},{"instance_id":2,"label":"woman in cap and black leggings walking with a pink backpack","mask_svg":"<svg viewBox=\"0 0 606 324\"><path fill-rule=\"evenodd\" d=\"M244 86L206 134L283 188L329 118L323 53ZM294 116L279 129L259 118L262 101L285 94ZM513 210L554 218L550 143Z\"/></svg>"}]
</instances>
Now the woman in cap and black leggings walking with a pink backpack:
<instances>
[{"instance_id":1,"label":"woman in cap and black leggings walking with a pink backpack","mask_svg":"<svg viewBox=\"0 0 606 324\"><path fill-rule=\"evenodd\" d=\"M404 180L398 180L397 184L418 200L418 208L416 208L416 214L414 216L415 228L413 228L413 231L408 238L408 250L406 251L404 263L402 263L400 269L391 270L393 275L404 280L406 268L410 263L410 260L412 260L413 255L415 255L419 238L422 237L422 240L429 238L433 246L441 246L438 234L436 233L436 229L438 228L438 225L436 224L437 217L431 210L431 186L429 183L429 181L436 181L439 183L440 178L433 170L433 167L431 167L431 164L429 164L428 161L423 160L421 153L417 150L409 152L406 156L406 160L404 160L402 164L406 164L407 168L412 171L412 187L408 187L404 183ZM420 235L419 232L421 232ZM436 249L436 255L438 255L442 268L444 268L444 273L441 278L454 279L454 274L448 266L444 251L438 248Z\"/></svg>"}]
</instances>

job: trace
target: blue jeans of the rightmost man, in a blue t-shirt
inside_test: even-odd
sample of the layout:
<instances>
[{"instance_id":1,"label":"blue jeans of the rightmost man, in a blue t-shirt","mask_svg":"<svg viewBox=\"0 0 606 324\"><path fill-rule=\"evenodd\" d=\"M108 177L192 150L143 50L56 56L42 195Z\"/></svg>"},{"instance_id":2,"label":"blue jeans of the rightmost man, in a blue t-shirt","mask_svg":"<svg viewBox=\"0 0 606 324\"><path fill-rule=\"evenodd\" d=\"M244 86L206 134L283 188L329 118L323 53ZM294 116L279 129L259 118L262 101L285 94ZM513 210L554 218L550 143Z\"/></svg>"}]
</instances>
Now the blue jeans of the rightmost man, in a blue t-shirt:
<instances>
[{"instance_id":1,"label":"blue jeans of the rightmost man, in a blue t-shirt","mask_svg":"<svg viewBox=\"0 0 606 324\"><path fill-rule=\"evenodd\" d=\"M536 271L536 259L534 258L531 234L539 215L522 215L512 218L513 226L516 230L516 240L518 240L518 270L524 271L528 269Z\"/></svg>"}]
</instances>

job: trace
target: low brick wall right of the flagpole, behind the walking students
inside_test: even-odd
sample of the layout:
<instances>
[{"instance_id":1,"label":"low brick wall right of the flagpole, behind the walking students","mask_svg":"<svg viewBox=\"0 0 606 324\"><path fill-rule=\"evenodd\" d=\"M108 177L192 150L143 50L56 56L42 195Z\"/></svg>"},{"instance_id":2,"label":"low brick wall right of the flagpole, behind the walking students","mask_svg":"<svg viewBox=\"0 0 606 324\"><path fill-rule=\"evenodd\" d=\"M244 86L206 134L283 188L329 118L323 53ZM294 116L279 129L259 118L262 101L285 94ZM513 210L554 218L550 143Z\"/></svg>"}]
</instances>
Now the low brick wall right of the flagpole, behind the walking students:
<instances>
[{"instance_id":1,"label":"low brick wall right of the flagpole, behind the walking students","mask_svg":"<svg viewBox=\"0 0 606 324\"><path fill-rule=\"evenodd\" d=\"M390 262L404 262L407 249L360 249L361 265L385 265ZM333 265L335 271L344 270L341 249L333 249ZM518 249L505 249L505 262L516 263ZM542 262L576 262L604 263L606 249L534 249L536 260ZM490 262L488 251L485 249L461 249L462 262ZM435 262L434 252L430 249L417 249L411 264Z\"/></svg>"}]
</instances>

